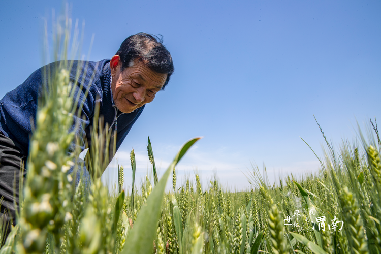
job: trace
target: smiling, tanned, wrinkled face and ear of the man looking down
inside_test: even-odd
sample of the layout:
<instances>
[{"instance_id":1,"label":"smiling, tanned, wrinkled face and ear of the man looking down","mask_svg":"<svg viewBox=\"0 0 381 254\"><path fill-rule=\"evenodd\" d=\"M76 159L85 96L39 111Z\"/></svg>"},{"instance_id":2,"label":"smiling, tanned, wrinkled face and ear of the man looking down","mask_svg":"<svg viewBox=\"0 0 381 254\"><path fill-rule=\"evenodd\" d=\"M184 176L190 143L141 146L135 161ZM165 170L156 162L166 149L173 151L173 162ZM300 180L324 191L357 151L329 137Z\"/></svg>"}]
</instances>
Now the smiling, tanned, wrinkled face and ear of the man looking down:
<instances>
[{"instance_id":1,"label":"smiling, tanned, wrinkled face and ear of the man looking down","mask_svg":"<svg viewBox=\"0 0 381 254\"><path fill-rule=\"evenodd\" d=\"M116 59L115 59L116 58ZM143 62L121 72L121 61L115 55L110 62L112 95L116 107L123 113L131 113L155 98L167 79L167 74L152 71Z\"/></svg>"}]
</instances>

